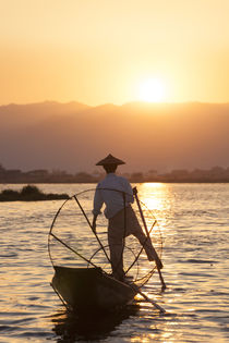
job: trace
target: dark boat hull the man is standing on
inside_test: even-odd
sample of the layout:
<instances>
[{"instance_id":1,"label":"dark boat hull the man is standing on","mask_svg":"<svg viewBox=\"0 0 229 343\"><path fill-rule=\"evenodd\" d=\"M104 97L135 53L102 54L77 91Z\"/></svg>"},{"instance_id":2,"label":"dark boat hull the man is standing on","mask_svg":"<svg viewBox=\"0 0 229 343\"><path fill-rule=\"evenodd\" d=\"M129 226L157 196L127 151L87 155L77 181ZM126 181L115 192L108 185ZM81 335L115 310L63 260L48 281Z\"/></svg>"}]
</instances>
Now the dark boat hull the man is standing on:
<instances>
[{"instance_id":1,"label":"dark boat hull the man is standing on","mask_svg":"<svg viewBox=\"0 0 229 343\"><path fill-rule=\"evenodd\" d=\"M114 309L126 305L137 293L134 289L104 273L100 268L55 266L55 291L72 309Z\"/></svg>"}]
</instances>

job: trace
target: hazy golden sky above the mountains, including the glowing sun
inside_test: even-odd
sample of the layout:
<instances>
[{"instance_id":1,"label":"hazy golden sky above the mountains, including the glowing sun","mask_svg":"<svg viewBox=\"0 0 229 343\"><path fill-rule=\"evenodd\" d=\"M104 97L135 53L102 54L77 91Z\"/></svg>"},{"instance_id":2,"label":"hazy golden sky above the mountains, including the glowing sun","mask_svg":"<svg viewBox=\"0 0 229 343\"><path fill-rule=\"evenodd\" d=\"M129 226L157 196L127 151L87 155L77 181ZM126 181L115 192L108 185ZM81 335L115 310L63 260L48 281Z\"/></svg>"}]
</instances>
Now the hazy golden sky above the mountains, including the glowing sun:
<instances>
[{"instance_id":1,"label":"hazy golden sky above the mountains, including the glowing sun","mask_svg":"<svg viewBox=\"0 0 229 343\"><path fill-rule=\"evenodd\" d=\"M0 105L229 101L229 0L0 0Z\"/></svg>"}]
</instances>

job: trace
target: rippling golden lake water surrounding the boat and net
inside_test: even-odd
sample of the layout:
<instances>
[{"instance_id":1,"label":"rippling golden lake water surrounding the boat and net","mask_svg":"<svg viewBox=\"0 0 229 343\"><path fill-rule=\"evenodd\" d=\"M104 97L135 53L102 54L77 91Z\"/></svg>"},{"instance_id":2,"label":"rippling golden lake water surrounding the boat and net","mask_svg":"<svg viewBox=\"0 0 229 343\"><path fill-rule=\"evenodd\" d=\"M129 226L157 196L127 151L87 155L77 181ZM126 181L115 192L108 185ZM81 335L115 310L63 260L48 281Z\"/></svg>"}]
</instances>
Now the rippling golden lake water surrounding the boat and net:
<instances>
[{"instance_id":1,"label":"rippling golden lake water surrounding the boat and net","mask_svg":"<svg viewBox=\"0 0 229 343\"><path fill-rule=\"evenodd\" d=\"M0 185L21 188L22 185ZM73 195L95 185L38 185ZM160 292L119 314L76 318L50 287L47 236L61 200L0 203L0 342L229 342L229 184L137 185L164 237Z\"/></svg>"}]
</instances>

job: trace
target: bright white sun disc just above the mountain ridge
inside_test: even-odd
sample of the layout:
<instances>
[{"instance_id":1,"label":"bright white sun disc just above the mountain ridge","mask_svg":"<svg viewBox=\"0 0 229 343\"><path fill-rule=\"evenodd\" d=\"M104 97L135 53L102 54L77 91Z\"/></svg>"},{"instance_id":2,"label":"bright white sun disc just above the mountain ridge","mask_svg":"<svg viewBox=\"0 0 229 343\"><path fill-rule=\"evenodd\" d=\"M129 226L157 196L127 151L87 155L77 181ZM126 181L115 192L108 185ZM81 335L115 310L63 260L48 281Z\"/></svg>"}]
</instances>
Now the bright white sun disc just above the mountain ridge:
<instances>
[{"instance_id":1,"label":"bright white sun disc just above the mountain ridge","mask_svg":"<svg viewBox=\"0 0 229 343\"><path fill-rule=\"evenodd\" d=\"M141 101L162 102L166 100L166 85L160 78L147 78L138 85L137 97Z\"/></svg>"}]
</instances>

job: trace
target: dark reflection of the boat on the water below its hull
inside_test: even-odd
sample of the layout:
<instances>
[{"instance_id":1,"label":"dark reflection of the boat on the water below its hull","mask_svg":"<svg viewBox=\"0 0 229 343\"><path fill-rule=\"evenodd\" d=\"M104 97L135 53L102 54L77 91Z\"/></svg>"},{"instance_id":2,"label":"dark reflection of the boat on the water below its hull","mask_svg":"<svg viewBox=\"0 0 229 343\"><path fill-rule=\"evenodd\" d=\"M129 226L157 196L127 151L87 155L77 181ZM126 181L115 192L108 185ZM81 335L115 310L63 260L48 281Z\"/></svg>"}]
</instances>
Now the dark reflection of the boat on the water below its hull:
<instances>
[{"instance_id":1,"label":"dark reflection of the boat on the water below its hull","mask_svg":"<svg viewBox=\"0 0 229 343\"><path fill-rule=\"evenodd\" d=\"M52 317L52 331L58 342L98 341L106 339L125 319L137 316L138 305L130 305L116 313L88 313L80 316L75 313L63 311Z\"/></svg>"}]
</instances>

